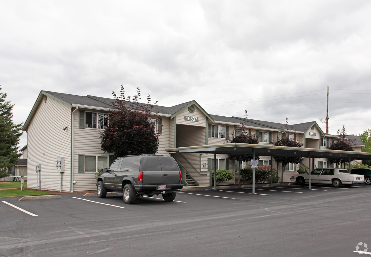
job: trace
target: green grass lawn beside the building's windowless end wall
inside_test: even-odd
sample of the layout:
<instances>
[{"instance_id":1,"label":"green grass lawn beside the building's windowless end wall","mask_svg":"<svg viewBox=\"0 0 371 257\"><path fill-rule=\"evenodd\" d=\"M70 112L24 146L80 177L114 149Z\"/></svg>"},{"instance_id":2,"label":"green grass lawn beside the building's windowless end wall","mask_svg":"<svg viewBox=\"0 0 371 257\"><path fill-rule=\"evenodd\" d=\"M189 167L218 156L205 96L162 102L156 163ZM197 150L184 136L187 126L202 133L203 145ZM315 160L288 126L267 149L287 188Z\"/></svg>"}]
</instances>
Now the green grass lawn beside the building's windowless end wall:
<instances>
[{"instance_id":1,"label":"green grass lawn beside the building's windowless end wall","mask_svg":"<svg viewBox=\"0 0 371 257\"><path fill-rule=\"evenodd\" d=\"M24 187L27 187L26 181L24 182ZM43 192L38 190L21 191L21 182L0 181L0 197L32 196L32 195L55 195L55 193Z\"/></svg>"}]
</instances>

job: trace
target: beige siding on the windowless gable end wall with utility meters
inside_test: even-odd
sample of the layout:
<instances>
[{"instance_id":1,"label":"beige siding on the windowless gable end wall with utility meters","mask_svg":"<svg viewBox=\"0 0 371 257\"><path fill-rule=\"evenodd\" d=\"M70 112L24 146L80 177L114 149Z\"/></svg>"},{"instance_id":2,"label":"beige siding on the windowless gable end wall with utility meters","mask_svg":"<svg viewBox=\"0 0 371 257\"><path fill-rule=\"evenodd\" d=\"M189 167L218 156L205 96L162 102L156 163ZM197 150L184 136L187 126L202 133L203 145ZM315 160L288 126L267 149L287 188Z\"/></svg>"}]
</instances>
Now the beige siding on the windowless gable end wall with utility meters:
<instances>
[{"instance_id":1,"label":"beige siding on the windowless gable end wall with utility meters","mask_svg":"<svg viewBox=\"0 0 371 257\"><path fill-rule=\"evenodd\" d=\"M62 191L70 190L71 108L47 98L40 102L27 131L27 187L37 188L35 166L41 163L41 188L60 190L56 159L65 158ZM63 128L68 127L66 131Z\"/></svg>"}]
</instances>

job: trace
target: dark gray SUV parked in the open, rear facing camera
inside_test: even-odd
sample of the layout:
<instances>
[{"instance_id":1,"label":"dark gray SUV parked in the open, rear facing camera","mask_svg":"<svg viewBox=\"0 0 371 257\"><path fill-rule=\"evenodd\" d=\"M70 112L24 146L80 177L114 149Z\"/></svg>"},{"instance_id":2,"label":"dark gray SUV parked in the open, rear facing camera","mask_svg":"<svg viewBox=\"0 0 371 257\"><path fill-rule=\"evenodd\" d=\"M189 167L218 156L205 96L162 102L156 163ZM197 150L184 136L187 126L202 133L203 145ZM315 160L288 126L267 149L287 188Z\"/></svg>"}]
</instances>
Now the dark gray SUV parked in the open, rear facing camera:
<instances>
[{"instance_id":1,"label":"dark gray SUV parked in the open, rear facing camera","mask_svg":"<svg viewBox=\"0 0 371 257\"><path fill-rule=\"evenodd\" d=\"M99 198L107 192L122 193L124 202L134 203L137 196L162 195L165 201L175 199L183 187L182 173L174 158L163 155L128 155L116 159L109 169L98 175Z\"/></svg>"}]
</instances>

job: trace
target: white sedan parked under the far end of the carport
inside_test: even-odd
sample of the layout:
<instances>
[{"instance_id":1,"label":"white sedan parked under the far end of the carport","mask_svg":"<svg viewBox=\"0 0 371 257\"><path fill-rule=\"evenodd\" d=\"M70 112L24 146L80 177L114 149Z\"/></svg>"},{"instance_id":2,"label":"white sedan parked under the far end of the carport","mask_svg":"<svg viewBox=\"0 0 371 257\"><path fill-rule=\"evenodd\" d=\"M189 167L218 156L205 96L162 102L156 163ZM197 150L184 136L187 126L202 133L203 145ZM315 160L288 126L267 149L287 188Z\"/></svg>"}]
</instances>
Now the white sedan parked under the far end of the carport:
<instances>
[{"instance_id":1,"label":"white sedan parked under the far end of the carport","mask_svg":"<svg viewBox=\"0 0 371 257\"><path fill-rule=\"evenodd\" d=\"M297 182L299 185L309 183L309 174L301 173L291 176L291 181ZM350 187L353 184L362 184L365 181L363 175L350 174L347 169L339 168L318 168L311 172L311 183L327 184L339 187L344 185Z\"/></svg>"}]
</instances>

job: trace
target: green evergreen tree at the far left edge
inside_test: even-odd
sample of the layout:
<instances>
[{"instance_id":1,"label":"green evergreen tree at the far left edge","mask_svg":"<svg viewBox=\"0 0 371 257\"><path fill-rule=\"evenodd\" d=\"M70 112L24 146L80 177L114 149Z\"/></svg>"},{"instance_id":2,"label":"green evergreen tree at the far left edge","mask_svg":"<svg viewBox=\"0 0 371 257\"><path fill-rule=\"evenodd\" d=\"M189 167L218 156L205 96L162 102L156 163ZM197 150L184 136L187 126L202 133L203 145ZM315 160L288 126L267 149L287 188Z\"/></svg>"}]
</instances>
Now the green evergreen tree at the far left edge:
<instances>
[{"instance_id":1,"label":"green evergreen tree at the far left edge","mask_svg":"<svg viewBox=\"0 0 371 257\"><path fill-rule=\"evenodd\" d=\"M5 101L6 93L1 92L0 87L0 178L9 176L6 168L17 164L21 153L18 153L18 144L22 136L21 124L14 124L13 106L10 101Z\"/></svg>"}]
</instances>

